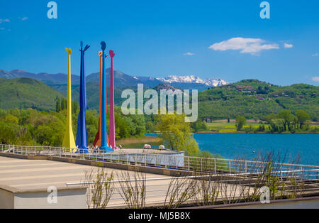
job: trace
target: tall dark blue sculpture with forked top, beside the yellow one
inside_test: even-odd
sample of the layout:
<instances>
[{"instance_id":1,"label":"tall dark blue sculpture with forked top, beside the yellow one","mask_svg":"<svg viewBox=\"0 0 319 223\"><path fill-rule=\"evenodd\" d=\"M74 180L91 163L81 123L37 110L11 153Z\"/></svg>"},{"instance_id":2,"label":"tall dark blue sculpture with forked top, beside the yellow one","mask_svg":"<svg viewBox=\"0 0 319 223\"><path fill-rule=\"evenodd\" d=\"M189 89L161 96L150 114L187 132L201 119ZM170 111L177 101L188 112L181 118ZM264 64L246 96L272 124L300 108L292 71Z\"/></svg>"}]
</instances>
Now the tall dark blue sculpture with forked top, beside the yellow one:
<instances>
[{"instance_id":1,"label":"tall dark blue sculpture with forked top, beside the yellow one","mask_svg":"<svg viewBox=\"0 0 319 223\"><path fill-rule=\"evenodd\" d=\"M83 49L83 42L81 41L81 67L80 67L80 92L79 92L79 116L77 119L77 148L79 153L88 153L87 151L87 131L86 131L86 82L84 75L84 52L89 48L86 45Z\"/></svg>"}]
</instances>

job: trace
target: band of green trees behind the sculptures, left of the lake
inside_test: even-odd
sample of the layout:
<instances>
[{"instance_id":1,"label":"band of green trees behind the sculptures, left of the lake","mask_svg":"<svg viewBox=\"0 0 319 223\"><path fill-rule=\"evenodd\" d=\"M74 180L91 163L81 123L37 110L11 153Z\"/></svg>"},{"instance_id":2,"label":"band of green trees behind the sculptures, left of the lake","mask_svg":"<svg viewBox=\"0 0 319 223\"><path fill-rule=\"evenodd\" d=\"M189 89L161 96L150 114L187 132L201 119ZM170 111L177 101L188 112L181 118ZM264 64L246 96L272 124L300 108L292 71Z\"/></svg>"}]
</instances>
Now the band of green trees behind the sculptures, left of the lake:
<instances>
[{"instance_id":1,"label":"band of green trees behind the sculptures, left of the lake","mask_svg":"<svg viewBox=\"0 0 319 223\"><path fill-rule=\"evenodd\" d=\"M0 143L29 146L62 146L67 118L64 99L61 107L54 111L36 109L0 109ZM77 102L72 102L77 104ZM79 107L72 109L72 129L77 136L77 116ZM109 114L109 112L108 112ZM107 117L109 119L109 116ZM145 134L142 115L123 115L121 108L115 109L116 139ZM107 125L109 121L107 120ZM89 143L93 143L99 129L99 114L96 110L86 110L86 129Z\"/></svg>"}]
</instances>

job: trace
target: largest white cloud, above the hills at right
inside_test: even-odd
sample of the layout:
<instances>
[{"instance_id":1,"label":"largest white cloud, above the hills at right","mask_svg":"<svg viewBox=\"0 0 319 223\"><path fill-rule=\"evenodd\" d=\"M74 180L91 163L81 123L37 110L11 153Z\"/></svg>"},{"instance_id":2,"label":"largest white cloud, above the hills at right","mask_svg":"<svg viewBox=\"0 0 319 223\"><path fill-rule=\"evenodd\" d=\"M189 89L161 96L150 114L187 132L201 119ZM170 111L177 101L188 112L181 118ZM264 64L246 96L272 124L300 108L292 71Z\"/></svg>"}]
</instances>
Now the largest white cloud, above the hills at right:
<instances>
[{"instance_id":1,"label":"largest white cloud, above the hills at right","mask_svg":"<svg viewBox=\"0 0 319 223\"><path fill-rule=\"evenodd\" d=\"M277 44L264 44L266 40L260 38L230 38L220 43L214 43L208 48L212 50L241 50L240 53L250 53L256 55L262 50L279 49Z\"/></svg>"}]
</instances>

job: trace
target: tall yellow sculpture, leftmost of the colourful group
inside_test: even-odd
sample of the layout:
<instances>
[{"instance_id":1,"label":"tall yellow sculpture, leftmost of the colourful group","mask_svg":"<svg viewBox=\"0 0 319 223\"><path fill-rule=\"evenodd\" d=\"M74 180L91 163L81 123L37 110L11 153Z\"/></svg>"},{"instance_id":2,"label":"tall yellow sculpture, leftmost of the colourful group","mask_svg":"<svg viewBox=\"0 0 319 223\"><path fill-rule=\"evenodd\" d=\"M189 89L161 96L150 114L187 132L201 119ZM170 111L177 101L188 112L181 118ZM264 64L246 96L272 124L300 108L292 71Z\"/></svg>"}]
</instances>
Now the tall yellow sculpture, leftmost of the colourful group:
<instances>
[{"instance_id":1,"label":"tall yellow sculpture, leftmost of the colourful group","mask_svg":"<svg viewBox=\"0 0 319 223\"><path fill-rule=\"evenodd\" d=\"M69 54L69 60L67 63L67 128L65 131L65 138L63 139L62 146L65 148L76 148L74 135L72 130L72 98L71 98L71 54L72 51L70 48L65 48ZM74 150L72 150L74 151ZM76 150L75 150L76 151ZM69 152L69 150L68 150Z\"/></svg>"}]
</instances>

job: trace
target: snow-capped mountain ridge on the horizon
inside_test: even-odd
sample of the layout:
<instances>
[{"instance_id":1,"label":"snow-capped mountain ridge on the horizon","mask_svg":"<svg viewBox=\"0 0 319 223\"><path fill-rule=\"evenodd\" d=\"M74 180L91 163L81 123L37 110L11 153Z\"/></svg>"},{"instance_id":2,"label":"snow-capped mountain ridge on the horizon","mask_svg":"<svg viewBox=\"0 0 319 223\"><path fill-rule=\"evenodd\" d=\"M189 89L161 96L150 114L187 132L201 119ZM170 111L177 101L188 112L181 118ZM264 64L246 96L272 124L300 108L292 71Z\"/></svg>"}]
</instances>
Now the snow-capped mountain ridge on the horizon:
<instances>
[{"instance_id":1,"label":"snow-capped mountain ridge on the horizon","mask_svg":"<svg viewBox=\"0 0 319 223\"><path fill-rule=\"evenodd\" d=\"M189 76L177 76L177 75L169 75L168 77L157 78L162 82L166 82L169 84L172 83L192 83L192 84L203 84L211 87L217 87L221 85L228 85L229 83L225 80L221 80L220 78L207 78L201 79L201 77L196 77L194 75Z\"/></svg>"}]
</instances>

